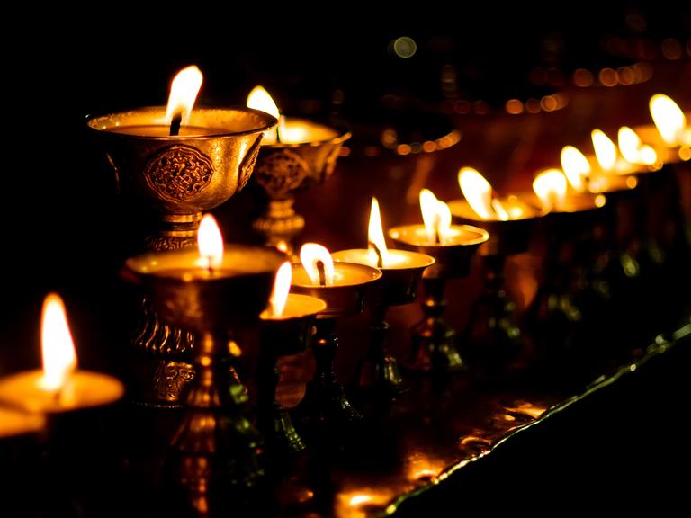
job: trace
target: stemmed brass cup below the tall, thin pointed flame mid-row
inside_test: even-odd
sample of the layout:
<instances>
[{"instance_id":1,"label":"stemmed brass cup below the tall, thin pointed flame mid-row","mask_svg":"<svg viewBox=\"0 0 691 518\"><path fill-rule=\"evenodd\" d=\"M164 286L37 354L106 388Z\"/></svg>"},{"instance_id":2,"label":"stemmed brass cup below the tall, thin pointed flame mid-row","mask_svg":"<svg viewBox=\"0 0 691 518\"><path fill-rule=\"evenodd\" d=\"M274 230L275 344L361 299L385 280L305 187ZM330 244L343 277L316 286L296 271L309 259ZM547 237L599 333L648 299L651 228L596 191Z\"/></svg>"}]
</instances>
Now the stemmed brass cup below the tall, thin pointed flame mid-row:
<instances>
[{"instance_id":1,"label":"stemmed brass cup below the tall, thin pointed flame mid-row","mask_svg":"<svg viewBox=\"0 0 691 518\"><path fill-rule=\"evenodd\" d=\"M389 323L386 314L390 306L410 304L417 297L417 286L426 268L435 263L434 257L408 250L389 250L400 263L381 267L379 290L372 297L372 321L370 322L370 343L367 355L360 363L357 386L374 390L387 399L400 393L403 378L396 358L386 347ZM331 255L337 262L368 263L371 251L367 249L340 250ZM376 263L376 262L375 262ZM372 265L372 264L371 264ZM373 266L373 265L372 265Z\"/></svg>"}]
</instances>

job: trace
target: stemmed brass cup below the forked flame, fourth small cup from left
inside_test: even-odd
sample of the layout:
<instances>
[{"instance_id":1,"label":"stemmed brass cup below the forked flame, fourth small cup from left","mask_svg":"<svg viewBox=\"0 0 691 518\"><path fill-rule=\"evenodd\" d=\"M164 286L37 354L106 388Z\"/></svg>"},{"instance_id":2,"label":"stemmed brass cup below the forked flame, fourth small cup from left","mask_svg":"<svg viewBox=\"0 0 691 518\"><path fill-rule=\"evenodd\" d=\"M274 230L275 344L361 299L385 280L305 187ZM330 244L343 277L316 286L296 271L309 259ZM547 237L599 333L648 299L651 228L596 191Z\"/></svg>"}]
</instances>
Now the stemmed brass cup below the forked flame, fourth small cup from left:
<instances>
[{"instance_id":1,"label":"stemmed brass cup below the forked flame, fourth small cup from left","mask_svg":"<svg viewBox=\"0 0 691 518\"><path fill-rule=\"evenodd\" d=\"M422 275L425 298L424 317L412 328L413 350L405 367L410 371L445 372L466 368L456 348L456 332L442 317L446 308L444 291L448 279L468 275L472 255L489 239L489 233L470 225L453 225L448 244L438 245L426 237L422 225L407 225L389 230L389 237L404 249L431 255L435 263Z\"/></svg>"}]
</instances>

